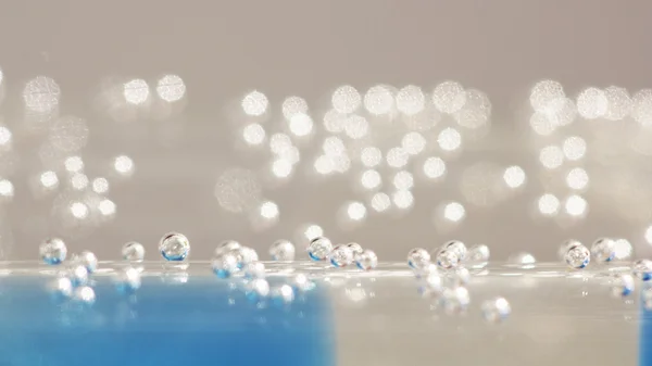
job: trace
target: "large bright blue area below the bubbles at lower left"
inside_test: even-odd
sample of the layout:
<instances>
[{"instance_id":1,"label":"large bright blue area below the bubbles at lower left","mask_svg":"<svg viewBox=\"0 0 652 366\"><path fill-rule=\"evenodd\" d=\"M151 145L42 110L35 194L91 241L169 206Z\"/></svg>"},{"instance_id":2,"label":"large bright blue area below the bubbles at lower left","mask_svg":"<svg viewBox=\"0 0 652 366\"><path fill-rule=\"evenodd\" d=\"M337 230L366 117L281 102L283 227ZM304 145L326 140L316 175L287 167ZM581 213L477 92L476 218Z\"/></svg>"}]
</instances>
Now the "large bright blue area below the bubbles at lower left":
<instances>
[{"instance_id":1,"label":"large bright blue area below the bubbles at lower left","mask_svg":"<svg viewBox=\"0 0 652 366\"><path fill-rule=\"evenodd\" d=\"M143 278L133 296L100 278L92 306L55 303L47 279L0 280L0 366L331 366L331 313L315 289L259 308L211 277Z\"/></svg>"}]
</instances>

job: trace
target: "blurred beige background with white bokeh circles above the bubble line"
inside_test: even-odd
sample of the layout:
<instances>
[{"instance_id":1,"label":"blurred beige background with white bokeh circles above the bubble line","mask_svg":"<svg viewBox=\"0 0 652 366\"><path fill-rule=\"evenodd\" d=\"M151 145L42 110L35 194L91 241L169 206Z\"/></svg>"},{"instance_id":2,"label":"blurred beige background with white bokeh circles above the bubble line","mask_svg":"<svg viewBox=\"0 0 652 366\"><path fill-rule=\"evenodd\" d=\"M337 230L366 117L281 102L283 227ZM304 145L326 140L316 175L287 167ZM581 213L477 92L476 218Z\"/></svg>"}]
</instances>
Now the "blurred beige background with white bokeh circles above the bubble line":
<instances>
[{"instance_id":1,"label":"blurred beige background with white bokeh circles above the bubble line","mask_svg":"<svg viewBox=\"0 0 652 366\"><path fill-rule=\"evenodd\" d=\"M171 230L193 258L322 231L380 260L449 239L554 260L563 240L599 236L649 254L650 14L588 0L4 4L2 256L36 258L60 236L105 260L136 240L154 258Z\"/></svg>"}]
</instances>

